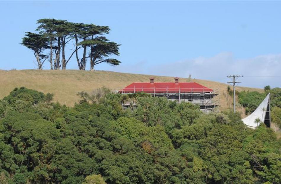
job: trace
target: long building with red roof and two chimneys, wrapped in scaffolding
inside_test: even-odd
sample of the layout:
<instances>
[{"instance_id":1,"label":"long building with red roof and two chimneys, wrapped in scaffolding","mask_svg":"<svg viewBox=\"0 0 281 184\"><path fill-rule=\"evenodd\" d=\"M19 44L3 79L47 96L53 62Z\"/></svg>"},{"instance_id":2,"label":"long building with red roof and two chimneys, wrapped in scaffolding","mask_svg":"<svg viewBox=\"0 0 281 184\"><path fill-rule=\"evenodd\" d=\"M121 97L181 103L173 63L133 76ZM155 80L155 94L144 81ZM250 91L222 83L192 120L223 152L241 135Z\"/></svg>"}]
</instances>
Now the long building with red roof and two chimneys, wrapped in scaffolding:
<instances>
[{"instance_id":1,"label":"long building with red roof and two chimneys, wrapped in scaffolding","mask_svg":"<svg viewBox=\"0 0 281 184\"><path fill-rule=\"evenodd\" d=\"M150 78L150 82L134 82L119 93L148 93L155 97L166 97L169 100L177 102L190 102L200 106L202 111L209 112L218 105L218 98L214 99L218 94L218 90L213 90L196 82L179 82L179 78L175 77L174 82L154 82L154 78Z\"/></svg>"}]
</instances>

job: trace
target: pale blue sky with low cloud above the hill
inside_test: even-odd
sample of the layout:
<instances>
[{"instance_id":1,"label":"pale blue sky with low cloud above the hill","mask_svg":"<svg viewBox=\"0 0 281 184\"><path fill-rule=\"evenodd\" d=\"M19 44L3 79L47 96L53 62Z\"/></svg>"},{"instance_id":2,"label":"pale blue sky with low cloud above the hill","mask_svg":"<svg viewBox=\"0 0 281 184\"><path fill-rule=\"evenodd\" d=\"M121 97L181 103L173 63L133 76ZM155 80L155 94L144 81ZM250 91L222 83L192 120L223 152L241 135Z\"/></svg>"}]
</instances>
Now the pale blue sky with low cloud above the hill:
<instances>
[{"instance_id":1,"label":"pale blue sky with low cloud above the hill","mask_svg":"<svg viewBox=\"0 0 281 184\"><path fill-rule=\"evenodd\" d=\"M281 77L250 77L281 76L278 1L0 1L0 7L0 69L35 69L21 38L36 20L56 18L111 28L107 37L121 44L115 58L122 63L96 70L220 82L241 74L241 86L281 86ZM67 69L78 69L75 58Z\"/></svg>"}]
</instances>

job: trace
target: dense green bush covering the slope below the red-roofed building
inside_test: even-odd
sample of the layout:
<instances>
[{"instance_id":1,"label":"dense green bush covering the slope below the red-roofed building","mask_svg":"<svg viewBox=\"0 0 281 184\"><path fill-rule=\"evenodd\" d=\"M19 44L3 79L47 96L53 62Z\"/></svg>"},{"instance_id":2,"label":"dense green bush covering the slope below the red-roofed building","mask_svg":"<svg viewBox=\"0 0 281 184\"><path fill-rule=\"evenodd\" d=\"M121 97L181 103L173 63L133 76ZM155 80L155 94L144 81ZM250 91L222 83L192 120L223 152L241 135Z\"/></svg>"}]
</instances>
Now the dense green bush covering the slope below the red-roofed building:
<instances>
[{"instance_id":1,"label":"dense green bush covering the slope below the red-roofed building","mask_svg":"<svg viewBox=\"0 0 281 184\"><path fill-rule=\"evenodd\" d=\"M73 108L26 88L0 101L2 183L281 182L281 141L263 124L143 94L81 94ZM137 107L123 110L126 100Z\"/></svg>"}]
</instances>

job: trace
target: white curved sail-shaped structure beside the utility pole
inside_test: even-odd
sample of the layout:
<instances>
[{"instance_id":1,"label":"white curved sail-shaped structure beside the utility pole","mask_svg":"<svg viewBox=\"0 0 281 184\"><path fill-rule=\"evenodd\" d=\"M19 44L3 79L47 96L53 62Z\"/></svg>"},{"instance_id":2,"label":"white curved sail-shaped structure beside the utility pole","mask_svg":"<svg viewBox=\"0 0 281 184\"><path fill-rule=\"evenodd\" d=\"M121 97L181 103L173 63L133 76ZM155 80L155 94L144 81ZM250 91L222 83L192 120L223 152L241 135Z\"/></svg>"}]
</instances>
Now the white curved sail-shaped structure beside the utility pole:
<instances>
[{"instance_id":1,"label":"white curved sail-shaped structure beside the utility pole","mask_svg":"<svg viewBox=\"0 0 281 184\"><path fill-rule=\"evenodd\" d=\"M266 113L268 112L268 106L269 106L269 97L270 93L265 97L265 99L261 102L261 104L256 108L256 110L251 113L246 118L242 119L244 124L246 124L248 127L255 129L259 126L260 123L264 123ZM260 122L256 122L256 119L259 119Z\"/></svg>"}]
</instances>

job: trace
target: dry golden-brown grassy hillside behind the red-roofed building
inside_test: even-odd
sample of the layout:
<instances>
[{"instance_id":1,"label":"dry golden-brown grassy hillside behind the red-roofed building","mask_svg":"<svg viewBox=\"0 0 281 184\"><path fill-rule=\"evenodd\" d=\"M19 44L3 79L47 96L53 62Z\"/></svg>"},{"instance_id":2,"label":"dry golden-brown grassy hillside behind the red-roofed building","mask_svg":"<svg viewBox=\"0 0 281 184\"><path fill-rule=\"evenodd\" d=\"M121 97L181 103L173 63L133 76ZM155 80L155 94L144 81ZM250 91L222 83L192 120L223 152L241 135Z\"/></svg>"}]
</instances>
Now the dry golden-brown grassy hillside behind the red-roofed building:
<instances>
[{"instance_id":1,"label":"dry golden-brown grassy hillside behind the red-roofed building","mask_svg":"<svg viewBox=\"0 0 281 184\"><path fill-rule=\"evenodd\" d=\"M79 101L77 92L91 92L93 89L102 86L111 89L122 89L132 82L148 82L150 75L118 73L109 71L79 71L79 70L12 70L0 71L0 99L7 96L15 87L27 87L36 89L43 93L54 93L54 100L66 105L74 105ZM155 82L174 81L173 77L154 76ZM180 79L180 82L186 82L187 79ZM227 89L227 84L192 79L206 87L220 90L220 109L225 110L231 106L232 100L227 95L223 95ZM237 87L238 91L262 89Z\"/></svg>"}]
</instances>

